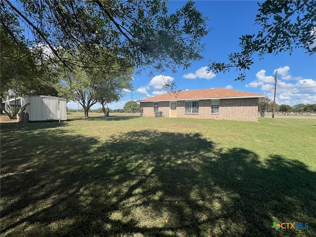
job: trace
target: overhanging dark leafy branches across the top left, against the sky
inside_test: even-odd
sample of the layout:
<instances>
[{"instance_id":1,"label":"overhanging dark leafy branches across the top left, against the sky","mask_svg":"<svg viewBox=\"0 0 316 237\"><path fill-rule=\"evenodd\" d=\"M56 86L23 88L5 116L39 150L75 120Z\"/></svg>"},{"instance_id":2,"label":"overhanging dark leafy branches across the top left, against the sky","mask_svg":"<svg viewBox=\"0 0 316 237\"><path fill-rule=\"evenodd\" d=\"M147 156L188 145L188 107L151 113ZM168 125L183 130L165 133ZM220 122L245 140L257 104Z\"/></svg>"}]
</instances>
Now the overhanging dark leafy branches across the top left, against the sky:
<instances>
[{"instance_id":1,"label":"overhanging dark leafy branches across the top left, against the sky","mask_svg":"<svg viewBox=\"0 0 316 237\"><path fill-rule=\"evenodd\" d=\"M64 51L79 52L91 62L99 53L95 45L133 62L138 69L188 68L192 60L202 58L199 42L208 33L206 18L193 1L170 14L164 0L2 0L1 15L5 14L23 22L29 38L47 45L69 69L82 64L65 57ZM1 25L23 43L22 33L11 31L9 21L1 18Z\"/></svg>"}]
</instances>

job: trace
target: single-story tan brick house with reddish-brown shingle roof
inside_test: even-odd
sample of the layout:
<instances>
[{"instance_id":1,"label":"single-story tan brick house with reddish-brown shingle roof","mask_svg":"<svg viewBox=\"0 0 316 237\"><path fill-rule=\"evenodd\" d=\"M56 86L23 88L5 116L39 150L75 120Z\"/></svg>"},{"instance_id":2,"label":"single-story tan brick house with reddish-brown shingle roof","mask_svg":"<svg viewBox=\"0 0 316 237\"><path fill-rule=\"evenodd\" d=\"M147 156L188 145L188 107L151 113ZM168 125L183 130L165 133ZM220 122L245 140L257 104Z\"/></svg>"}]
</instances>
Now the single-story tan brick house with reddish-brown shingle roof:
<instances>
[{"instance_id":1,"label":"single-story tan brick house with reddish-brown shingle roof","mask_svg":"<svg viewBox=\"0 0 316 237\"><path fill-rule=\"evenodd\" d=\"M185 90L140 100L141 116L257 121L261 94L222 89Z\"/></svg>"}]
</instances>

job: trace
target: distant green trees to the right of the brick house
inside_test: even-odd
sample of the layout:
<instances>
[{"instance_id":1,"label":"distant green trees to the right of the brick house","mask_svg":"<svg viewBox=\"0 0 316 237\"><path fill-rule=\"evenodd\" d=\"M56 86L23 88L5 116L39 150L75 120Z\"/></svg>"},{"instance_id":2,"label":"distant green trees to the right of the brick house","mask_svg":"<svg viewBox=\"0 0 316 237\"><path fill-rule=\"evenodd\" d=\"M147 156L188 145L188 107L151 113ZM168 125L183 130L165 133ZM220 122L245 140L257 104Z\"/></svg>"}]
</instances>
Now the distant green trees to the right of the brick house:
<instances>
[{"instance_id":1,"label":"distant green trees to the right of the brick house","mask_svg":"<svg viewBox=\"0 0 316 237\"><path fill-rule=\"evenodd\" d=\"M273 101L264 97L259 101L258 111L261 117L264 117L267 112L272 112ZM316 113L316 104L297 104L294 106L290 105L277 105L275 111L279 113Z\"/></svg>"}]
</instances>

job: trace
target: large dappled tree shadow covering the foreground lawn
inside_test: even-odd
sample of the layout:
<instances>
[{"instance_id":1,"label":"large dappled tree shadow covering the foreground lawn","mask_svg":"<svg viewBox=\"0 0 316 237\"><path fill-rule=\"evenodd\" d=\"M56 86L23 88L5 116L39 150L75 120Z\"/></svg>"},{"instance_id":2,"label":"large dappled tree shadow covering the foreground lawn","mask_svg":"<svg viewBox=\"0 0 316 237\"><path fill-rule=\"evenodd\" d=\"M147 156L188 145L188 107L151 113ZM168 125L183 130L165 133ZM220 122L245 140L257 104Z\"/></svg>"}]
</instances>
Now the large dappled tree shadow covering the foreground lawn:
<instances>
[{"instance_id":1,"label":"large dappled tree shadow covering the foreground lawn","mask_svg":"<svg viewBox=\"0 0 316 237\"><path fill-rule=\"evenodd\" d=\"M2 234L316 234L271 227L316 226L316 173L301 161L217 149L198 133L131 131L101 144L60 131L1 141Z\"/></svg>"}]
</instances>

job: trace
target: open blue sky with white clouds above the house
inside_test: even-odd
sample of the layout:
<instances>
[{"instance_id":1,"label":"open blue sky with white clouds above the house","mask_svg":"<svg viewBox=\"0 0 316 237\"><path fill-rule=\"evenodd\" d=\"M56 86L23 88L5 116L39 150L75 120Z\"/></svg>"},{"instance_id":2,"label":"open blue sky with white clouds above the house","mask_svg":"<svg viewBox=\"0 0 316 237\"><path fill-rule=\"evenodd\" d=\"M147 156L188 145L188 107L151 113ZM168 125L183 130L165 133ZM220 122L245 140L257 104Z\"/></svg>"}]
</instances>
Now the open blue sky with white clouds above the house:
<instances>
[{"instance_id":1,"label":"open blue sky with white clouds above the house","mask_svg":"<svg viewBox=\"0 0 316 237\"><path fill-rule=\"evenodd\" d=\"M180 8L185 1L171 0L170 11ZM176 74L160 73L148 77L145 71L134 75L133 100L165 93L162 90L163 78L173 80L180 90L204 88L229 88L241 91L264 94L273 98L274 75L277 73L277 104L315 104L316 103L316 55L308 55L303 49L295 49L291 55L283 52L279 55L265 55L263 60L257 60L246 72L245 81L235 81L238 72L213 74L208 73L209 60L228 62L230 53L238 52L241 35L255 34L260 26L254 25L258 12L257 1L196 1L196 6L204 16L208 16L209 34L202 40L205 50L203 61L193 62L192 66L183 70L179 68ZM111 103L111 109L121 109L132 99L132 92L126 91L126 96L119 102ZM70 102L69 108L77 109L76 102ZM100 108L96 104L92 109Z\"/></svg>"}]
</instances>

